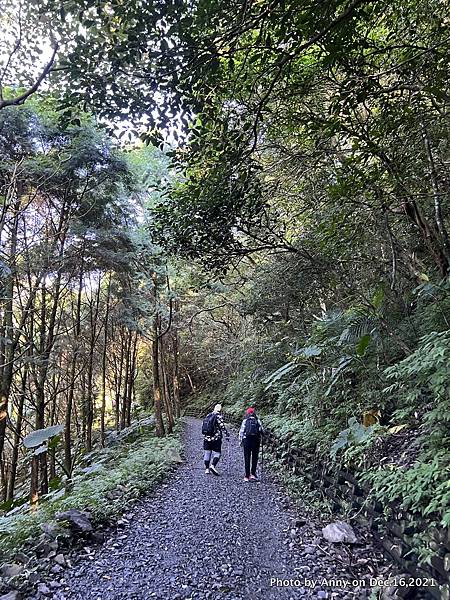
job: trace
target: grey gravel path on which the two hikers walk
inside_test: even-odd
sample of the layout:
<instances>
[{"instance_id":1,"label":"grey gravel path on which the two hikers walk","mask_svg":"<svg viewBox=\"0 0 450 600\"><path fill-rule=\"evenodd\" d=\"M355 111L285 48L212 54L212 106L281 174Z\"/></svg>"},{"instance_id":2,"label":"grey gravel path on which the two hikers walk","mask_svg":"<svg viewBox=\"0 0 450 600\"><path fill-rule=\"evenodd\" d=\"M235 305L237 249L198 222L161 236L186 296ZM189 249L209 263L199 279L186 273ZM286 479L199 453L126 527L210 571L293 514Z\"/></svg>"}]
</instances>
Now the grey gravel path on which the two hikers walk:
<instances>
[{"instance_id":1,"label":"grey gravel path on which the two hikers walk","mask_svg":"<svg viewBox=\"0 0 450 600\"><path fill-rule=\"evenodd\" d=\"M324 578L352 575L349 561L320 539L323 523L299 520L278 486L267 479L242 481L235 435L228 447L224 442L222 475L205 475L200 430L200 421L187 419L184 464L126 513L103 545L85 548L76 563L72 560L52 597L361 598L355 588L324 586ZM276 587L270 585L272 577L297 581L295 586ZM310 583L313 579L315 584Z\"/></svg>"}]
</instances>

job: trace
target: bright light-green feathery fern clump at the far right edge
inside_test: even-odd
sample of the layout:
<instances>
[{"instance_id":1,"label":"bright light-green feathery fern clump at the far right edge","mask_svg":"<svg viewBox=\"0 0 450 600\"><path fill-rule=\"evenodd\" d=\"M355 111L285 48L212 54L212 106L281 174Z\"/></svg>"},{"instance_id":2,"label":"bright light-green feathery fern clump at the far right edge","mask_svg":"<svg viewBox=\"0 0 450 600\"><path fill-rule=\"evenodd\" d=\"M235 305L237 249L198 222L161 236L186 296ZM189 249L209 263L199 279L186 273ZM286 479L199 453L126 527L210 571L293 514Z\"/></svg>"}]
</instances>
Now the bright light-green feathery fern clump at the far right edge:
<instances>
[{"instance_id":1,"label":"bright light-green feathery fern clump at the far right edge","mask_svg":"<svg viewBox=\"0 0 450 600\"><path fill-rule=\"evenodd\" d=\"M373 467L363 478L378 499L398 502L442 526L450 523L449 365L450 334L433 331L412 354L386 369L388 379L395 381L385 390L397 398L392 420L421 422L421 453L409 468Z\"/></svg>"}]
</instances>

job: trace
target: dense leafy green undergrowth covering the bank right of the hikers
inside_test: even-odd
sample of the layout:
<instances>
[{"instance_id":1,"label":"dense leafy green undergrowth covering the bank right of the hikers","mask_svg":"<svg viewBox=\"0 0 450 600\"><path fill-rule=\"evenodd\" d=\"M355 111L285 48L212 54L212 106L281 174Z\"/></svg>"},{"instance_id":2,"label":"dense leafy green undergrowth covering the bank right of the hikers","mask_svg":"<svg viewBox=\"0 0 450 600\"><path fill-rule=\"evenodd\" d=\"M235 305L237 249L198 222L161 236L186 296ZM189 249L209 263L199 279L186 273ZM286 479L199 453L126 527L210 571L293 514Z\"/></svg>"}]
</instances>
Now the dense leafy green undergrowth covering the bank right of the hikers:
<instances>
[{"instance_id":1,"label":"dense leafy green undergrowth covering the bank right of the hikers","mask_svg":"<svg viewBox=\"0 0 450 600\"><path fill-rule=\"evenodd\" d=\"M329 311L309 337L275 342L270 360L244 357L222 393L225 410L242 416L256 406L306 460L353 470L384 506L450 525L449 290L419 286L406 313L381 289L370 310Z\"/></svg>"}]
</instances>

